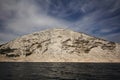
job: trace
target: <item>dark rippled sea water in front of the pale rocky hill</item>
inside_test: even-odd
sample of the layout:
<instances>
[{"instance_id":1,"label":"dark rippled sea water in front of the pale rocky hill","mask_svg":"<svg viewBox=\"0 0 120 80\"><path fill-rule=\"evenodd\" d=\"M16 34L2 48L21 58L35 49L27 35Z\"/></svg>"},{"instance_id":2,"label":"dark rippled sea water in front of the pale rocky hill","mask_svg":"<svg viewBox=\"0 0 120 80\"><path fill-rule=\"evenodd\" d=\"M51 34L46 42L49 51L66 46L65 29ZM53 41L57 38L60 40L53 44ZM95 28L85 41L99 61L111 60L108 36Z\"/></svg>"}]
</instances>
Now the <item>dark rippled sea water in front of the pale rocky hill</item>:
<instances>
[{"instance_id":1,"label":"dark rippled sea water in front of the pale rocky hill","mask_svg":"<svg viewBox=\"0 0 120 80\"><path fill-rule=\"evenodd\" d=\"M120 63L0 63L0 80L120 80Z\"/></svg>"}]
</instances>

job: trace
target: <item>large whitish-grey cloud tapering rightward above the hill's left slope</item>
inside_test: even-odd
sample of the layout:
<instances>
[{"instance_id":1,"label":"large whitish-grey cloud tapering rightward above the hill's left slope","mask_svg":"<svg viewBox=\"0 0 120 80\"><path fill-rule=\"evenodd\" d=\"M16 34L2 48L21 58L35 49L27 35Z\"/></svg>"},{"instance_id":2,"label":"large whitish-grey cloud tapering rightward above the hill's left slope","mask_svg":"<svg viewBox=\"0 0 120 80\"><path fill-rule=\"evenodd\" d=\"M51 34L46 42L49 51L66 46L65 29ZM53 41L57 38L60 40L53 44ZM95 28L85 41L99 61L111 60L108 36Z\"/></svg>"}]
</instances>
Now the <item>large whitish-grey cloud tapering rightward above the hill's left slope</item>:
<instances>
[{"instance_id":1,"label":"large whitish-grey cloud tapering rightward above the hill's left slope","mask_svg":"<svg viewBox=\"0 0 120 80\"><path fill-rule=\"evenodd\" d=\"M26 33L28 28L29 32L32 32L35 28L66 27L67 21L45 14L44 10L32 0L22 0L15 7L15 17L6 22L7 29L14 32Z\"/></svg>"}]
</instances>

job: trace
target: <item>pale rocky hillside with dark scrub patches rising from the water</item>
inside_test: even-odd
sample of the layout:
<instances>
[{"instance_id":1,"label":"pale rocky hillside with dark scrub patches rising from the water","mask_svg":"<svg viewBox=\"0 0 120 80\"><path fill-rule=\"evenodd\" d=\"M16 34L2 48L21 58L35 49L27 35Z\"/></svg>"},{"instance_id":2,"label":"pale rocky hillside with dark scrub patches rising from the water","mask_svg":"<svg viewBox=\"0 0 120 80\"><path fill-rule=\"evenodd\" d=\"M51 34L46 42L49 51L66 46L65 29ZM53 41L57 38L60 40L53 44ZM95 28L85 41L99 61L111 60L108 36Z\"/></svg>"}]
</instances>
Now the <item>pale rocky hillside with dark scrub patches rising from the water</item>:
<instances>
[{"instance_id":1,"label":"pale rocky hillside with dark scrub patches rising from the water","mask_svg":"<svg viewBox=\"0 0 120 80\"><path fill-rule=\"evenodd\" d=\"M71 30L50 29L1 45L0 61L120 62L120 45Z\"/></svg>"}]
</instances>

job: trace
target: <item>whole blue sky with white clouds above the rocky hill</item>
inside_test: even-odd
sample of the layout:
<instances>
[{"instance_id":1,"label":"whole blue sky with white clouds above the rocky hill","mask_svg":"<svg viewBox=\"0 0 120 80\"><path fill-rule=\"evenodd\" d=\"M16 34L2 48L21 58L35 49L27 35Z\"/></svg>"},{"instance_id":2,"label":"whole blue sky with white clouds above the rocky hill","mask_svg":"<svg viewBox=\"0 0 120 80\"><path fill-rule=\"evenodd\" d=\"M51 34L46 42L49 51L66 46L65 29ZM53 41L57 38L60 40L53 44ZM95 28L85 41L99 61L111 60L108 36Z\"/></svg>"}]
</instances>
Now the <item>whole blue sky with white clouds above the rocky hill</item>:
<instances>
[{"instance_id":1,"label":"whole blue sky with white clouds above the rocky hill","mask_svg":"<svg viewBox=\"0 0 120 80\"><path fill-rule=\"evenodd\" d=\"M120 0L0 0L0 44L51 28L120 42Z\"/></svg>"}]
</instances>

